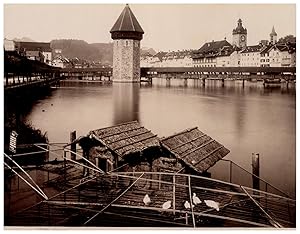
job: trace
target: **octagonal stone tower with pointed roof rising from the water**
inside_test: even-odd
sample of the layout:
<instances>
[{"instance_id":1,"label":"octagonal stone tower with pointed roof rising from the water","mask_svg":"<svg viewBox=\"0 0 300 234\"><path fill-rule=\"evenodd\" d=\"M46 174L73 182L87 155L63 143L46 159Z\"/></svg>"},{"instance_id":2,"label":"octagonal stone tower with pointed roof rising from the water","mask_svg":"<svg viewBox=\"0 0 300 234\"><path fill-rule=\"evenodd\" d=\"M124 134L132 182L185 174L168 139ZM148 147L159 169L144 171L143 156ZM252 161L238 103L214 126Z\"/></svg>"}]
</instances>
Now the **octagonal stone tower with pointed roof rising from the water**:
<instances>
[{"instance_id":1,"label":"octagonal stone tower with pointed roof rising from the water","mask_svg":"<svg viewBox=\"0 0 300 234\"><path fill-rule=\"evenodd\" d=\"M113 82L140 81L140 41L144 31L126 4L110 30L113 45Z\"/></svg>"}]
</instances>

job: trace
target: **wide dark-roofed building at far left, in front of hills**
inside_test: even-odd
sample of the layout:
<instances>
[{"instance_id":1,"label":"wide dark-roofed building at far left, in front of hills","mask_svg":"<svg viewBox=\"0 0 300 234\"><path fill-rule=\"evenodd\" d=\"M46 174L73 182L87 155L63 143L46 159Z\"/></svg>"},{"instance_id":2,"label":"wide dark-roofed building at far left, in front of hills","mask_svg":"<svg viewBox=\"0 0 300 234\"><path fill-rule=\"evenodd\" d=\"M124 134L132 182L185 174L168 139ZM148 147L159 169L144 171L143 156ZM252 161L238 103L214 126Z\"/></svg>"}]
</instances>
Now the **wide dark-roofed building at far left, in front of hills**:
<instances>
[{"instance_id":1,"label":"wide dark-roofed building at far left, in front of hills","mask_svg":"<svg viewBox=\"0 0 300 234\"><path fill-rule=\"evenodd\" d=\"M50 43L16 41L15 46L20 55L32 59L33 57L37 58L37 55L42 54L43 56L35 60L39 60L49 65L51 64L52 49L50 47Z\"/></svg>"}]
</instances>

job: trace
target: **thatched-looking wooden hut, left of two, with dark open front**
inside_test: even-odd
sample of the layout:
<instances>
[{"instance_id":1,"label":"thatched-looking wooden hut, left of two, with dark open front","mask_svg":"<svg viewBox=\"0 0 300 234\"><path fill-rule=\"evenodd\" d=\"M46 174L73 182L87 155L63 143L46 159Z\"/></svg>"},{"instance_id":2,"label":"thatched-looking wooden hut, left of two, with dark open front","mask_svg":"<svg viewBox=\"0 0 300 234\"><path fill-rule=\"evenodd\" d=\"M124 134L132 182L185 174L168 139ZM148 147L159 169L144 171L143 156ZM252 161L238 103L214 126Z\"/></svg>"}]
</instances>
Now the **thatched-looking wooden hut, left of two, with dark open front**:
<instances>
[{"instance_id":1,"label":"thatched-looking wooden hut, left of two, with dark open front","mask_svg":"<svg viewBox=\"0 0 300 234\"><path fill-rule=\"evenodd\" d=\"M160 151L157 135L137 121L90 131L79 140L84 155L105 172L152 161ZM151 157L150 157L151 155Z\"/></svg>"}]
</instances>

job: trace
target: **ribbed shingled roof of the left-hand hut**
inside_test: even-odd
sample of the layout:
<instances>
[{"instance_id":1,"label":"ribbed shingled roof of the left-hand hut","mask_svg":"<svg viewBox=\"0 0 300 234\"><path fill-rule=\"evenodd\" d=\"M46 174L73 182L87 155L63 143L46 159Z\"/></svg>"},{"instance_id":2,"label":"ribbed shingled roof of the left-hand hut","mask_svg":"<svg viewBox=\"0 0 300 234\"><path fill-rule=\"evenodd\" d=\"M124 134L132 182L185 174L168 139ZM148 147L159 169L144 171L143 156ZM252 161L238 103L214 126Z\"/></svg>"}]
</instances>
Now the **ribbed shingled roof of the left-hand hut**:
<instances>
[{"instance_id":1,"label":"ribbed shingled roof of the left-hand hut","mask_svg":"<svg viewBox=\"0 0 300 234\"><path fill-rule=\"evenodd\" d=\"M120 157L159 147L159 138L137 121L93 130L90 135Z\"/></svg>"}]
</instances>

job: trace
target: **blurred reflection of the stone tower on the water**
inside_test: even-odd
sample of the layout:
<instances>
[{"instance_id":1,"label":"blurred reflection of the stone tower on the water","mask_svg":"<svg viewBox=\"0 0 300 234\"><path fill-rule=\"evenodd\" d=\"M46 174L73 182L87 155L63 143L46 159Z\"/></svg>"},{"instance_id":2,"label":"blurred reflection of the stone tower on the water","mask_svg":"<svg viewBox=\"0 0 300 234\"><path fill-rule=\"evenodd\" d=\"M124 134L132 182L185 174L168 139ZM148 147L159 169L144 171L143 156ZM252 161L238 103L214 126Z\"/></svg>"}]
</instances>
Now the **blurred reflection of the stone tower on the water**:
<instances>
[{"instance_id":1,"label":"blurred reflection of the stone tower on the water","mask_svg":"<svg viewBox=\"0 0 300 234\"><path fill-rule=\"evenodd\" d=\"M140 84L114 83L114 124L139 121Z\"/></svg>"}]
</instances>

